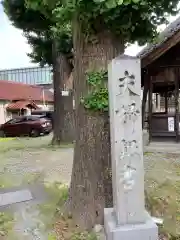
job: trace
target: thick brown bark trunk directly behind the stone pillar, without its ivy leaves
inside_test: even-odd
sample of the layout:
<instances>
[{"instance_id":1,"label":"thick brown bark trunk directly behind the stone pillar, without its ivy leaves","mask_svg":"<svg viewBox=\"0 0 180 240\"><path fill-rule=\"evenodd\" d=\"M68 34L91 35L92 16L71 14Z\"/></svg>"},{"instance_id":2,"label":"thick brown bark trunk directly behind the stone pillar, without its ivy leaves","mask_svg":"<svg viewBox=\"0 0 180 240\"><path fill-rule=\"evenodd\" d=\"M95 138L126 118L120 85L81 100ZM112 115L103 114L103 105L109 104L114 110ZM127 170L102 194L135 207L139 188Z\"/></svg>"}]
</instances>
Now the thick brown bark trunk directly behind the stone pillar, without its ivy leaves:
<instances>
[{"instance_id":1,"label":"thick brown bark trunk directly behind the stone pillar, without its ivy leaves","mask_svg":"<svg viewBox=\"0 0 180 240\"><path fill-rule=\"evenodd\" d=\"M80 23L74 25L76 143L69 203L75 223L88 230L103 223L104 207L112 205L112 181L109 117L87 111L80 103L88 91L85 72L106 70L124 44L109 33L99 34L97 43L87 43Z\"/></svg>"}]
</instances>

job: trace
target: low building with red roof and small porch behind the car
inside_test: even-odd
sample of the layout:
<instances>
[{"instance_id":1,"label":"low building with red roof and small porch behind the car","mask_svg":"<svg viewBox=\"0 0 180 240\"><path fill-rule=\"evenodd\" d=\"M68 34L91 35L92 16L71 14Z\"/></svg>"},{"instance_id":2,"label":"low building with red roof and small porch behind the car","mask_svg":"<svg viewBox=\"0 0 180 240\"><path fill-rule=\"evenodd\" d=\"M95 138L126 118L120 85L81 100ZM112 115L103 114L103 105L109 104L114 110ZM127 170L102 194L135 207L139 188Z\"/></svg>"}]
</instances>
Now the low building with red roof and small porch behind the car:
<instances>
[{"instance_id":1,"label":"low building with red roof and small porch behind the car","mask_svg":"<svg viewBox=\"0 0 180 240\"><path fill-rule=\"evenodd\" d=\"M53 93L41 86L0 80L0 124L33 109L52 109L53 98Z\"/></svg>"}]
</instances>

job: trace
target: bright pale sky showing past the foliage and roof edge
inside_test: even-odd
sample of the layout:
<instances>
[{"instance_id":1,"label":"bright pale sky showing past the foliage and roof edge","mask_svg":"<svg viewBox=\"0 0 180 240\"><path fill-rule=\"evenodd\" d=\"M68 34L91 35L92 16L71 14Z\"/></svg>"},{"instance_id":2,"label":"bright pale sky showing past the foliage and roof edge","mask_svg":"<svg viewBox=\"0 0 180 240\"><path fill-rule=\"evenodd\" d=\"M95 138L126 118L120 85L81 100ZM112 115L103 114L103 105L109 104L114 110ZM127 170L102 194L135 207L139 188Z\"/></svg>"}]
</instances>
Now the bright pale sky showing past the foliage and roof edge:
<instances>
[{"instance_id":1,"label":"bright pale sky showing past the foliage and roof edge","mask_svg":"<svg viewBox=\"0 0 180 240\"><path fill-rule=\"evenodd\" d=\"M170 21L176 17L170 17ZM23 68L35 66L31 63L27 53L31 52L30 46L27 44L26 38L22 31L12 26L3 7L0 4L0 69ZM163 29L165 26L161 26ZM126 54L135 56L142 47L133 44L126 49Z\"/></svg>"}]
</instances>

